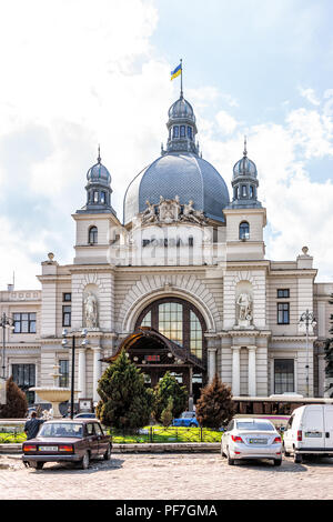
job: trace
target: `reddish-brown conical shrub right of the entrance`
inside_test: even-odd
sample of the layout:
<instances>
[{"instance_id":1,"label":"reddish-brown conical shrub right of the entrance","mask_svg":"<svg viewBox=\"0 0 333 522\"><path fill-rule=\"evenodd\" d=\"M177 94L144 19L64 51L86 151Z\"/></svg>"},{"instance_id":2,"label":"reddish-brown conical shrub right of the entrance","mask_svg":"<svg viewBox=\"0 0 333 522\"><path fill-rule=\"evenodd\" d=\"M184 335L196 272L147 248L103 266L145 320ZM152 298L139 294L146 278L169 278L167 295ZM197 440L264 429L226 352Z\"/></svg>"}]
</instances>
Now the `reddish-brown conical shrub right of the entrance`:
<instances>
[{"instance_id":1,"label":"reddish-brown conical shrub right of the entrance","mask_svg":"<svg viewBox=\"0 0 333 522\"><path fill-rule=\"evenodd\" d=\"M220 428L234 415L231 389L223 384L218 375L201 390L195 406L198 422L204 428Z\"/></svg>"}]
</instances>

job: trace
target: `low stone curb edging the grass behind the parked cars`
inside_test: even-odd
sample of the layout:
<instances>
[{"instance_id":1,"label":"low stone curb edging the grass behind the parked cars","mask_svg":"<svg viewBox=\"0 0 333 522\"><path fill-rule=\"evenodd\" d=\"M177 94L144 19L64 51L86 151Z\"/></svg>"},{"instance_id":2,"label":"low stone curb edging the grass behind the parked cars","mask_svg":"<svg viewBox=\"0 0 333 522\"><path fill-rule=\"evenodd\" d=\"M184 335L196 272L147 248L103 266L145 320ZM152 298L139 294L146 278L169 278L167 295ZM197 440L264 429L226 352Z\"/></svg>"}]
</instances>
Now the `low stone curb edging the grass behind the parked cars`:
<instances>
[{"instance_id":1,"label":"low stone curb edging the grass behind the parked cars","mask_svg":"<svg viewBox=\"0 0 333 522\"><path fill-rule=\"evenodd\" d=\"M113 444L112 453L219 453L219 442ZM21 454L22 444L0 444L0 454Z\"/></svg>"}]
</instances>

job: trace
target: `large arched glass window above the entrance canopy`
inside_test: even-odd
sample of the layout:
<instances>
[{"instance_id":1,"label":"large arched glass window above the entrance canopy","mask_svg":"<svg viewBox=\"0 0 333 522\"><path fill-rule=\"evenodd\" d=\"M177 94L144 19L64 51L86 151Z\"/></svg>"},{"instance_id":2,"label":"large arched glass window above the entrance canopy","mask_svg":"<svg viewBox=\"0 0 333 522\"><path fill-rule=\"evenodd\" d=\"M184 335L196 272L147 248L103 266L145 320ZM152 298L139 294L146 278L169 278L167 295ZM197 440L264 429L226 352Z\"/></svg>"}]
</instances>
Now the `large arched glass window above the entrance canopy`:
<instances>
[{"instance_id":1,"label":"large arched glass window above the entrance canopy","mask_svg":"<svg viewBox=\"0 0 333 522\"><path fill-rule=\"evenodd\" d=\"M139 315L135 328L138 327L154 328L199 359L205 359L204 319L188 301L176 298L154 301Z\"/></svg>"}]
</instances>

